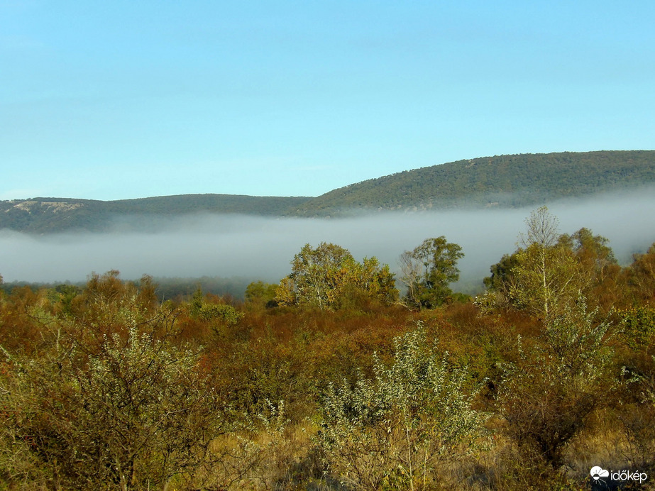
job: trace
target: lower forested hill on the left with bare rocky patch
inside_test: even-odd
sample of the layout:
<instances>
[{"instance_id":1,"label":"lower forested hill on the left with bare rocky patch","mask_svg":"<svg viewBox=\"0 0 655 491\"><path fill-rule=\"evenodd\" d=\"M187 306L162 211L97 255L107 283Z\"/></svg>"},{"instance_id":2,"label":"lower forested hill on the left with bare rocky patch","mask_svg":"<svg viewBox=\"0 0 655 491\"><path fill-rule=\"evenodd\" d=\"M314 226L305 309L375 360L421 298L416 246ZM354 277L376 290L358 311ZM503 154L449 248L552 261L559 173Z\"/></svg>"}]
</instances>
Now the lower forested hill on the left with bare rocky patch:
<instances>
[{"instance_id":1,"label":"lower forested hill on the left with bare rocky patch","mask_svg":"<svg viewBox=\"0 0 655 491\"><path fill-rule=\"evenodd\" d=\"M0 229L31 233L68 230L106 231L114 226L157 228L191 213L280 216L309 197L255 197L232 194L182 194L117 201L31 198L0 202Z\"/></svg>"}]
</instances>

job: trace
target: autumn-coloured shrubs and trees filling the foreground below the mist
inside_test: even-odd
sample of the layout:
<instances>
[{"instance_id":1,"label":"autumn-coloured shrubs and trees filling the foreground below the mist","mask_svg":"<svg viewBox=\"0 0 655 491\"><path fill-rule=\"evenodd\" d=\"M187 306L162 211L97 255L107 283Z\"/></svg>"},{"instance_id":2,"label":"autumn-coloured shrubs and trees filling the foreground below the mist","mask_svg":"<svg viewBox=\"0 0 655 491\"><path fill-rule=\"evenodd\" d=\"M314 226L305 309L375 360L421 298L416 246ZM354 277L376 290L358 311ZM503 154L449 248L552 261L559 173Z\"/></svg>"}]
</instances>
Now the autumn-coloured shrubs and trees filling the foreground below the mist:
<instances>
[{"instance_id":1,"label":"autumn-coloured shrubs and trees filling the foreground below the mist","mask_svg":"<svg viewBox=\"0 0 655 491\"><path fill-rule=\"evenodd\" d=\"M655 245L618 265L546 209L485 294L461 250L306 245L246 301L149 277L0 296L0 489L578 490L655 475ZM648 489L649 482L642 485ZM630 489L638 489L632 487Z\"/></svg>"}]
</instances>

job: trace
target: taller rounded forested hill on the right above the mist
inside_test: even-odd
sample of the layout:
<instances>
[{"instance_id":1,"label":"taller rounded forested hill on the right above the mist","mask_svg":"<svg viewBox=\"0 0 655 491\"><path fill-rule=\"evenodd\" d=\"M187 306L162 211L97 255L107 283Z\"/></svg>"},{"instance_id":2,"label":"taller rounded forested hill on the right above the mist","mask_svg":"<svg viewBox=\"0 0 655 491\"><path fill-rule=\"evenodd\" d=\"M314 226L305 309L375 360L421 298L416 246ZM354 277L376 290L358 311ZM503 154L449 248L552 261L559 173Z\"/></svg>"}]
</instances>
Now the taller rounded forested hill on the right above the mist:
<instances>
[{"instance_id":1,"label":"taller rounded forested hill on the right above the mist","mask_svg":"<svg viewBox=\"0 0 655 491\"><path fill-rule=\"evenodd\" d=\"M311 199L292 214L529 206L655 183L655 150L500 155L407 170Z\"/></svg>"}]
</instances>

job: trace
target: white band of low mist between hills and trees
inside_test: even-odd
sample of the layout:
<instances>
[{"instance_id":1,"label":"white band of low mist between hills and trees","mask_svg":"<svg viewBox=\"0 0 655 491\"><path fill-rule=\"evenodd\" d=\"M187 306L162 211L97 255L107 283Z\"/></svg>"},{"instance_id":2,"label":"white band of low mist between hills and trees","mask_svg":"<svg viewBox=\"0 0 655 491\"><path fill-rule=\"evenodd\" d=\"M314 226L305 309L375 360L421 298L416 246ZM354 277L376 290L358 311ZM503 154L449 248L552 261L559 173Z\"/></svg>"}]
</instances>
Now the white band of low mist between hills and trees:
<instances>
[{"instance_id":1,"label":"white band of low mist between hills and trees","mask_svg":"<svg viewBox=\"0 0 655 491\"><path fill-rule=\"evenodd\" d=\"M490 265L516 249L532 209L387 212L349 219L198 214L167 220L158 231L126 231L124 222L111 233L30 236L3 230L0 274L6 282L75 282L93 271L116 269L124 279L207 275L277 282L290 272L290 261L305 243L336 243L358 260L375 255L397 270L404 250L424 238L446 236L466 254L460 262L461 289L475 292ZM655 242L652 192L556 202L549 210L558 216L561 233L587 227L609 238L622 264Z\"/></svg>"}]
</instances>

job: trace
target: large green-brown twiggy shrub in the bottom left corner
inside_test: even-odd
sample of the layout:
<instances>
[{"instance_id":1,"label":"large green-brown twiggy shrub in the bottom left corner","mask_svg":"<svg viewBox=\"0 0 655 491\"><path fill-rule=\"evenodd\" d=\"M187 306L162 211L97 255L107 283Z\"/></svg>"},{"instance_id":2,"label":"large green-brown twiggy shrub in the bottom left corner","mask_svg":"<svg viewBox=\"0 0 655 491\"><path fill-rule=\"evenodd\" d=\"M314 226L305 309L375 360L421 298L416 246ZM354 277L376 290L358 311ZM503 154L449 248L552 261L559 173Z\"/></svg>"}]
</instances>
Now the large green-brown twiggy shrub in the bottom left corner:
<instances>
[{"instance_id":1,"label":"large green-brown twiggy shrub in the bottom left corner","mask_svg":"<svg viewBox=\"0 0 655 491\"><path fill-rule=\"evenodd\" d=\"M31 442L56 486L132 489L194 473L221 431L198 355L137 324L97 347L62 336L40 358L6 353L14 397L5 424Z\"/></svg>"}]
</instances>

